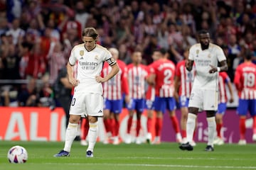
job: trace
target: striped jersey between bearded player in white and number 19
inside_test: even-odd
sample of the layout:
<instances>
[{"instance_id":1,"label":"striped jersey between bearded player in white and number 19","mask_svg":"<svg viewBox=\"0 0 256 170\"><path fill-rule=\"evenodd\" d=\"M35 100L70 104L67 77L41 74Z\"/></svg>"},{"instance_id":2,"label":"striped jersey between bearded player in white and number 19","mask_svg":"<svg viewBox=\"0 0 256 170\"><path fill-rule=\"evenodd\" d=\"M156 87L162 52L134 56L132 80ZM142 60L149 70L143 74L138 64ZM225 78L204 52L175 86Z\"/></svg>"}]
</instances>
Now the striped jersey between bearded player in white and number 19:
<instances>
[{"instance_id":1,"label":"striped jersey between bearded player in white and number 19","mask_svg":"<svg viewBox=\"0 0 256 170\"><path fill-rule=\"evenodd\" d=\"M218 77L218 91L219 91L219 103L227 103L228 97L226 93L226 86L228 84L230 78L226 72L220 72Z\"/></svg>"}]
</instances>

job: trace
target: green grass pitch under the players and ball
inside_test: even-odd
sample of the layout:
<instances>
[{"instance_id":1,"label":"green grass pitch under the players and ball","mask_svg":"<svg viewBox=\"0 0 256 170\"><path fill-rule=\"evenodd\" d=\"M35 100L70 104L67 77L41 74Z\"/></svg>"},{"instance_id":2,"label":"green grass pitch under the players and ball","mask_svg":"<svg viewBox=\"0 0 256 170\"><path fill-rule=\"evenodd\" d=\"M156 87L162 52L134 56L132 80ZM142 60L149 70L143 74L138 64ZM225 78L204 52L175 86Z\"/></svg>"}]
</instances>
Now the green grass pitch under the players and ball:
<instances>
[{"instance_id":1,"label":"green grass pitch under the players and ball","mask_svg":"<svg viewBox=\"0 0 256 170\"><path fill-rule=\"evenodd\" d=\"M28 151L25 164L10 164L8 150L21 145ZM103 145L97 142L93 158L85 157L87 147L73 143L70 157L53 157L63 148L63 142L11 142L0 141L0 169L256 169L256 145L225 144L215 146L214 152L205 152L206 143L198 143L192 152L178 149L177 143L161 145Z\"/></svg>"}]
</instances>

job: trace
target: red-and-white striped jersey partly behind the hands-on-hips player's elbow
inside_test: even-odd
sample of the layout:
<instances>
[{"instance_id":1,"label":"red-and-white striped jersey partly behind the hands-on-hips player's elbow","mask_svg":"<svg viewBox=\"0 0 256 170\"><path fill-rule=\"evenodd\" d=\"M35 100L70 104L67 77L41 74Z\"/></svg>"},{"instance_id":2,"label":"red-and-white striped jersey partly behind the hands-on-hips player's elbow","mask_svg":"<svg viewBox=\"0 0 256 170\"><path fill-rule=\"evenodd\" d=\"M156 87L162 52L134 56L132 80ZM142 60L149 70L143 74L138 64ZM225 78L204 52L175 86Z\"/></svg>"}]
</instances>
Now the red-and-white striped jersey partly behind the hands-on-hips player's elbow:
<instances>
[{"instance_id":1,"label":"red-and-white striped jersey partly behind the hands-on-hips player's elbow","mask_svg":"<svg viewBox=\"0 0 256 170\"><path fill-rule=\"evenodd\" d=\"M121 60L117 60L119 65L119 72L109 81L103 83L103 97L109 100L122 99L122 93L129 95L128 81L127 81L127 66ZM102 77L107 76L112 70L112 67L105 62L102 69Z\"/></svg>"}]
</instances>

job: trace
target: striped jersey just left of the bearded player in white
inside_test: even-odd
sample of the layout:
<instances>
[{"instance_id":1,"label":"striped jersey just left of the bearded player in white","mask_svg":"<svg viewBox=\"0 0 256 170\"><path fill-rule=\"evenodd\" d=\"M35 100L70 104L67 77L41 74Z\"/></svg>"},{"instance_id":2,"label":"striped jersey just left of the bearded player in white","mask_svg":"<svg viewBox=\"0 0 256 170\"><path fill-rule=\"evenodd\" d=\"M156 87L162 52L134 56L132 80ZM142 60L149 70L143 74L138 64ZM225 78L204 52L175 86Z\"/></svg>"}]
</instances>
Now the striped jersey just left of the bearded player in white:
<instances>
[{"instance_id":1,"label":"striped jersey just left of the bearded player in white","mask_svg":"<svg viewBox=\"0 0 256 170\"><path fill-rule=\"evenodd\" d=\"M195 69L188 72L185 64L186 60L182 60L181 62L178 62L176 66L176 77L179 77L181 80L181 84L178 88L178 95L189 98L193 85L193 78L195 77Z\"/></svg>"}]
</instances>

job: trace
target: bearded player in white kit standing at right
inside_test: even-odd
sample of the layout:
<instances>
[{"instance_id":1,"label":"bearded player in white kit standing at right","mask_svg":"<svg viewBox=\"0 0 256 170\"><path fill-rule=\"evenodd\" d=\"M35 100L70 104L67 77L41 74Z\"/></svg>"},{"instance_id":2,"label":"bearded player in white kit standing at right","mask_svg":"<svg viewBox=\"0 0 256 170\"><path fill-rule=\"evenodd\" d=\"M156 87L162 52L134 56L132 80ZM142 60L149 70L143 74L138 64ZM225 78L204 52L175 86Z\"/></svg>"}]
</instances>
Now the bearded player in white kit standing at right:
<instances>
[{"instance_id":1,"label":"bearded player in white kit standing at right","mask_svg":"<svg viewBox=\"0 0 256 170\"><path fill-rule=\"evenodd\" d=\"M187 142L179 146L182 150L193 150L191 142L196 125L199 108L206 111L208 123L208 144L206 151L213 151L213 140L216 130L215 113L218 108L218 72L228 70L228 64L223 50L210 43L208 31L198 32L200 43L189 50L186 69L191 71L193 63L196 66L196 76L193 81L191 96L188 103L188 120L186 123ZM218 67L220 63L220 67Z\"/></svg>"}]
</instances>

